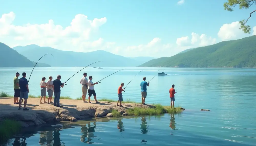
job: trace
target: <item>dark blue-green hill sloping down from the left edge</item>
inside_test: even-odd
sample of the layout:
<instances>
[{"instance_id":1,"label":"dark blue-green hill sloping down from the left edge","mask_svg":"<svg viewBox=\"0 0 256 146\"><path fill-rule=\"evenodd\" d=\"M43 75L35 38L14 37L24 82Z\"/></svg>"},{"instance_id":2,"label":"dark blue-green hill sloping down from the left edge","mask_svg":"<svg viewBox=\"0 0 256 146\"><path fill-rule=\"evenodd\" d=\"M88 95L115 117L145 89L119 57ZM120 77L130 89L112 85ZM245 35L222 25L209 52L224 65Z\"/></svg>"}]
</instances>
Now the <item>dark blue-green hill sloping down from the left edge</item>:
<instances>
[{"instance_id":1,"label":"dark blue-green hill sloping down from the left edge","mask_svg":"<svg viewBox=\"0 0 256 146\"><path fill-rule=\"evenodd\" d=\"M34 67L36 62L32 62L9 46L0 42L0 67ZM37 67L50 67L48 64L37 64Z\"/></svg>"}]
</instances>

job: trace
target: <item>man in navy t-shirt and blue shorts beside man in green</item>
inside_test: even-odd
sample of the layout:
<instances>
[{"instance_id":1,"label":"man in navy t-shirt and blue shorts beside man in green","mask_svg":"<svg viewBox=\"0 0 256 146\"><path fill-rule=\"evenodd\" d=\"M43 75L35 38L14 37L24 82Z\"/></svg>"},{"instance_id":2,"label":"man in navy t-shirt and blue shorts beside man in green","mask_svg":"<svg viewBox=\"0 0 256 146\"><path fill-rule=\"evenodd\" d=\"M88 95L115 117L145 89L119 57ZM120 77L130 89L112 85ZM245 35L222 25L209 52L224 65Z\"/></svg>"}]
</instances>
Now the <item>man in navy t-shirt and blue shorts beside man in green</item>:
<instances>
[{"instance_id":1,"label":"man in navy t-shirt and blue shorts beside man in green","mask_svg":"<svg viewBox=\"0 0 256 146\"><path fill-rule=\"evenodd\" d=\"M27 73L22 73L22 78L19 79L19 87L20 87L20 98L19 98L19 109L22 109L21 107L21 100L24 98L24 108L23 110L28 110L26 108L27 105L27 99L28 99L28 80L26 79Z\"/></svg>"}]
</instances>

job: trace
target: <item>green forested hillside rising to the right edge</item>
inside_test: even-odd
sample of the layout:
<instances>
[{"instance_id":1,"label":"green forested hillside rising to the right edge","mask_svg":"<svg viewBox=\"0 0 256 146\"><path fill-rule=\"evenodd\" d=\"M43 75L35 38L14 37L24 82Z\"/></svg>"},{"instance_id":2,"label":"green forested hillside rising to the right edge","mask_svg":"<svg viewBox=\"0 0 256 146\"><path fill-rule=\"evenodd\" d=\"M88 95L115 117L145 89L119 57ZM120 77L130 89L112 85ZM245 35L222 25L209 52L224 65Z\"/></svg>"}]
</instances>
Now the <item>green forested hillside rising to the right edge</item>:
<instances>
[{"instance_id":1,"label":"green forested hillside rising to the right edge","mask_svg":"<svg viewBox=\"0 0 256 146\"><path fill-rule=\"evenodd\" d=\"M256 67L256 35L150 60L139 67Z\"/></svg>"}]
</instances>

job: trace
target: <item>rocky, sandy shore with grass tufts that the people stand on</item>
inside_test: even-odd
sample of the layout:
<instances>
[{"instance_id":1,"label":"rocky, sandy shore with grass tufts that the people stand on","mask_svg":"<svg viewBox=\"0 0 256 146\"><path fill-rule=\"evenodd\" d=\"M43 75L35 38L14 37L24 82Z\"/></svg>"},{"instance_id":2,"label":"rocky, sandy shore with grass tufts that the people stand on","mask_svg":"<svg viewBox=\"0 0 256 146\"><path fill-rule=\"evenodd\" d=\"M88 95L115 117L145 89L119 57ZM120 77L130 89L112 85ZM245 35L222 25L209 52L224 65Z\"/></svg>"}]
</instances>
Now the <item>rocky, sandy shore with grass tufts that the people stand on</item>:
<instances>
[{"instance_id":1,"label":"rocky, sandy shore with grass tufts that the people stand on","mask_svg":"<svg viewBox=\"0 0 256 146\"><path fill-rule=\"evenodd\" d=\"M46 100L47 101L47 100ZM86 100L88 102L88 100ZM18 110L18 105L13 104L13 97L0 98L0 121L12 119L20 123L21 127L39 126L56 121L78 121L93 117L115 116L141 116L161 115L165 113L182 113L183 108L163 107L162 105L143 105L138 103L122 103L123 107L116 103L101 101L99 104L83 103L79 99L60 99L62 107L54 107L53 104L40 104L39 98L28 98L29 111ZM22 104L23 107L23 104ZM137 113L141 115L136 115Z\"/></svg>"}]
</instances>

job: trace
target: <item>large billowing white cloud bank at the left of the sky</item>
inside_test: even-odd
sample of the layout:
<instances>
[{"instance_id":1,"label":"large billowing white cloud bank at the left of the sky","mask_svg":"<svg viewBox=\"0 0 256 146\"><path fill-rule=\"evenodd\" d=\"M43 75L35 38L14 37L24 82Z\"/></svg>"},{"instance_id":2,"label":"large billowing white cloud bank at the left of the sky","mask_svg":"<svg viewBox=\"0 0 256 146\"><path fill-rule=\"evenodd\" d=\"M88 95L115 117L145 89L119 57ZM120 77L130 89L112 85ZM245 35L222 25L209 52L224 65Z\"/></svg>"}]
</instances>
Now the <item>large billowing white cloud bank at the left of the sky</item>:
<instances>
[{"instance_id":1,"label":"large billowing white cloud bank at the left of the sky","mask_svg":"<svg viewBox=\"0 0 256 146\"><path fill-rule=\"evenodd\" d=\"M14 44L20 46L37 44L61 50L88 52L93 48L99 48L104 43L103 38L93 41L89 41L89 38L93 30L97 30L106 23L107 18L89 20L87 16L78 14L65 28L54 24L53 20L49 20L46 24L26 24L23 26L13 25L14 20L15 13L13 12L3 14L0 19L1 41L10 47L14 47Z\"/></svg>"}]
</instances>

